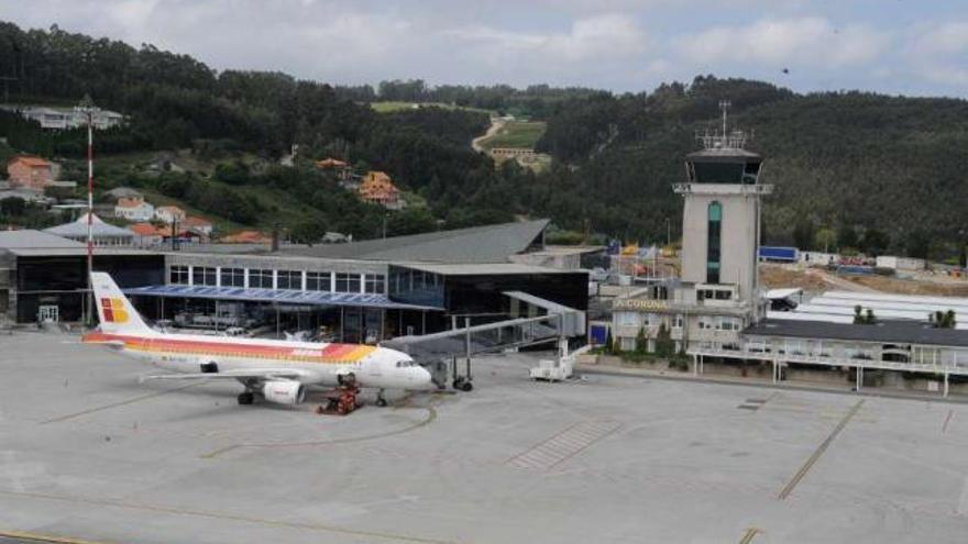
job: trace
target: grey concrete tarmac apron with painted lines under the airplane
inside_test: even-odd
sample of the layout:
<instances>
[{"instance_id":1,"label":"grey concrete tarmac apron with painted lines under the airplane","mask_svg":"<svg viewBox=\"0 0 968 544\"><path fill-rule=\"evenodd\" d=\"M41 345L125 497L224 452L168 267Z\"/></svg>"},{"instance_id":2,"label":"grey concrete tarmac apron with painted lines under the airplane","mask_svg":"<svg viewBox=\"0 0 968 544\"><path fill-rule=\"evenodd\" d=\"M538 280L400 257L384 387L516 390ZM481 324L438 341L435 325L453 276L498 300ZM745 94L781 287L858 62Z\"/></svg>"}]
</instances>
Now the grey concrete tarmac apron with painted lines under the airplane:
<instances>
[{"instance_id":1,"label":"grey concrete tarmac apron with painted lines under the airplane","mask_svg":"<svg viewBox=\"0 0 968 544\"><path fill-rule=\"evenodd\" d=\"M966 404L534 382L536 360L477 359L472 392L341 418L0 336L0 542L968 541Z\"/></svg>"}]
</instances>

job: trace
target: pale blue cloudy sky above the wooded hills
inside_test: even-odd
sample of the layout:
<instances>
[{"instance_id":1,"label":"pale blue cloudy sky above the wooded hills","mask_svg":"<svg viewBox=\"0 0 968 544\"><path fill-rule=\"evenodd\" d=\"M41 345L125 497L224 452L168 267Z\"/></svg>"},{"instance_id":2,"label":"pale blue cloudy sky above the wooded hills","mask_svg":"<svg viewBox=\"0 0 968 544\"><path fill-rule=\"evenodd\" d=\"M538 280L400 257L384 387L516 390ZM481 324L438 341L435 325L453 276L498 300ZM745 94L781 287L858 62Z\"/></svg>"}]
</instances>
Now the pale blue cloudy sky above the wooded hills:
<instances>
[{"instance_id":1,"label":"pale blue cloudy sky above the wooded hills","mask_svg":"<svg viewBox=\"0 0 968 544\"><path fill-rule=\"evenodd\" d=\"M0 0L0 20L333 85L637 92L714 74L968 97L966 0Z\"/></svg>"}]
</instances>

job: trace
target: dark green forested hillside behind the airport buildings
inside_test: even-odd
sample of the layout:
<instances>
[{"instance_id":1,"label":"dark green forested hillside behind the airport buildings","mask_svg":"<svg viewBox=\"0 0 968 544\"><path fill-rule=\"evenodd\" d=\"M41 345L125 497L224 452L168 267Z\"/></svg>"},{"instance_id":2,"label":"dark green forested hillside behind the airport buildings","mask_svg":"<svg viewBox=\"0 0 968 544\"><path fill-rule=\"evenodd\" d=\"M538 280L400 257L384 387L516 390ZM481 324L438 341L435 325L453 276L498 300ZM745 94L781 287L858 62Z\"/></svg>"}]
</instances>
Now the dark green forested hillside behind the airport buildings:
<instances>
[{"instance_id":1,"label":"dark green forested hillside behind the airport buildings","mask_svg":"<svg viewBox=\"0 0 968 544\"><path fill-rule=\"evenodd\" d=\"M144 44L0 23L8 103L74 106L89 96L128 122L97 134L99 191L118 186L184 202L227 225L282 226L312 241L547 217L561 242L676 236L695 134L729 100L730 124L766 157L765 240L801 248L956 257L968 236L968 102L859 91L801 95L771 84L697 76L635 93L586 88L341 87L280 73L217 71ZM427 107L380 112L375 102ZM447 104L437 107L431 104ZM542 121L538 173L496 166L470 142L490 115ZM0 158L35 153L82 174L84 131L44 132L0 112ZM280 158L296 146L293 166ZM158 157L191 168L152 170ZM387 212L337 186L315 160L386 171L420 206ZM16 211L16 210L14 210ZM22 212L23 222L41 221ZM0 222L15 222L0 207Z\"/></svg>"}]
</instances>

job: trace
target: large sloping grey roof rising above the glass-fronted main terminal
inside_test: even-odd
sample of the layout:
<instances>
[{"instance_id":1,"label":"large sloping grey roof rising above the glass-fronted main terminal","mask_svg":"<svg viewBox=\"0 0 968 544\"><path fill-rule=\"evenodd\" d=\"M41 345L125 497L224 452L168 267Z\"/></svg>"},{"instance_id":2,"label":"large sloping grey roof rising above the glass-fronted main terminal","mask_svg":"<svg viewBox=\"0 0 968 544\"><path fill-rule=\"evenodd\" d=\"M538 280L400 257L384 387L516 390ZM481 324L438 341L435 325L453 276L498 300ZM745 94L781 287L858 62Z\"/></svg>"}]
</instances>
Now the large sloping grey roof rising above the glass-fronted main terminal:
<instances>
[{"instance_id":1,"label":"large sloping grey roof rising above the glass-fronted main terminal","mask_svg":"<svg viewBox=\"0 0 968 544\"><path fill-rule=\"evenodd\" d=\"M507 263L509 256L540 243L548 220L474 226L349 244L283 248L280 255L419 260L431 263Z\"/></svg>"}]
</instances>

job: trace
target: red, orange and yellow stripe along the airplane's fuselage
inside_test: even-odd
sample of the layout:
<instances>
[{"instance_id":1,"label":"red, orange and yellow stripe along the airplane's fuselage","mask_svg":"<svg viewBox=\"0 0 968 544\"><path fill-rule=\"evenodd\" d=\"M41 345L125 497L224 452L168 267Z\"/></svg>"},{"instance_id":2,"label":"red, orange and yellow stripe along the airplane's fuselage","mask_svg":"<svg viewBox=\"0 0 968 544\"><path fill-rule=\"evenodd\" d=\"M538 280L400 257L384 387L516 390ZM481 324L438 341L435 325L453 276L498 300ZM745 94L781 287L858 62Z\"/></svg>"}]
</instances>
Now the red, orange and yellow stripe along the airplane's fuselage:
<instances>
[{"instance_id":1,"label":"red, orange and yellow stripe along the airplane's fuselage","mask_svg":"<svg viewBox=\"0 0 968 544\"><path fill-rule=\"evenodd\" d=\"M364 344L328 344L322 348L306 348L206 342L200 340L177 340L166 338L164 336L129 336L99 332L86 334L82 342L88 344L123 342L125 349L158 354L211 355L219 357L245 357L317 364L356 363L376 351L376 347Z\"/></svg>"}]
</instances>

